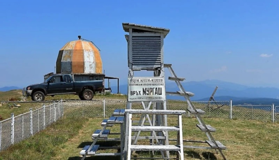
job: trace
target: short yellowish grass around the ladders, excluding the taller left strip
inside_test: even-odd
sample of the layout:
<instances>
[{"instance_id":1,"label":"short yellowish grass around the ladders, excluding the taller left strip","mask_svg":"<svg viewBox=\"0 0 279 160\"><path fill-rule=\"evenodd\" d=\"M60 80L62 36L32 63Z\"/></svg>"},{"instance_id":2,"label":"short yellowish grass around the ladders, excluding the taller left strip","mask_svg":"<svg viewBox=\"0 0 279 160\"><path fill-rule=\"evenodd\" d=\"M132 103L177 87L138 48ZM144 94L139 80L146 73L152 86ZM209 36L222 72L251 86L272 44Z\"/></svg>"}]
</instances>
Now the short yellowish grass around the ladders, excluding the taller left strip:
<instances>
[{"instance_id":1,"label":"short yellowish grass around the ladders, excluding the taller left strip","mask_svg":"<svg viewBox=\"0 0 279 160\"><path fill-rule=\"evenodd\" d=\"M91 134L95 129L101 129L100 122L102 118L90 118L86 125L79 131L77 135L69 139L63 148L60 147L60 151L51 159L68 159L79 160L79 152L84 145L90 145L92 143ZM214 126L217 131L213 133L216 140L227 146L227 150L223 153L227 159L242 159L242 160L261 160L261 159L278 159L279 147L277 133L279 124L264 123L254 120L224 120L217 118L205 118L206 124ZM169 125L176 125L176 119L170 118ZM186 140L206 140L205 133L202 133L195 127L197 123L196 119L184 118L183 119L183 134ZM115 125L111 128L111 132L119 133L119 126ZM115 137L117 135L112 135ZM170 133L170 138L175 138L175 132ZM138 144L143 144L143 141L139 141ZM175 142L172 142L175 143ZM102 141L99 144L111 146L119 145L113 142L104 143ZM184 145L192 145L184 142ZM197 145L197 144L195 144ZM117 152L117 150L110 150ZM107 150L101 150L99 152L106 153ZM149 154L134 153L134 156L147 157ZM222 159L220 154L216 154L214 150L206 149L184 149L185 159ZM91 157L89 159L102 159L103 157ZM106 158L104 158L106 159ZM110 157L111 160L117 159L117 157Z\"/></svg>"}]
</instances>

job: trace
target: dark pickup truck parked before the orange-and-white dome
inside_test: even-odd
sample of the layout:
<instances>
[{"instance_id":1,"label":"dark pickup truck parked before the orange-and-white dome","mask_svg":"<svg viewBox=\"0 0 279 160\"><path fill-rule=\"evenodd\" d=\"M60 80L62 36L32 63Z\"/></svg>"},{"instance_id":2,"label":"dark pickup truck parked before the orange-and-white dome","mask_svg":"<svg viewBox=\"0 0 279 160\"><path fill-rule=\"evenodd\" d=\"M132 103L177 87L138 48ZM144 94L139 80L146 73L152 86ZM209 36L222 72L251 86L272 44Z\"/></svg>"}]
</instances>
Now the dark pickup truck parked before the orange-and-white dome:
<instances>
[{"instance_id":1,"label":"dark pickup truck parked before the orange-and-white dome","mask_svg":"<svg viewBox=\"0 0 279 160\"><path fill-rule=\"evenodd\" d=\"M44 101L45 96L74 94L81 100L91 100L94 94L104 91L103 80L74 80L73 74L53 74L43 83L29 85L23 88L22 94L31 96L33 101Z\"/></svg>"}]
</instances>

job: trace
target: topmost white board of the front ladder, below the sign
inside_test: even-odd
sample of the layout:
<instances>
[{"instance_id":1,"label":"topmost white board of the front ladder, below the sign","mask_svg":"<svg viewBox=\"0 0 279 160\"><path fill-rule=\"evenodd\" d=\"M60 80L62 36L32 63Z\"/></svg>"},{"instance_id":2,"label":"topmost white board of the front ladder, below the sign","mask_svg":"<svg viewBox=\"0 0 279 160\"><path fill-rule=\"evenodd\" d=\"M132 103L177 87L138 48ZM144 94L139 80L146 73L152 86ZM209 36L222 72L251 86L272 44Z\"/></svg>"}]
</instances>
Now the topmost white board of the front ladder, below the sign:
<instances>
[{"instance_id":1,"label":"topmost white board of the front ladder, below the sign","mask_svg":"<svg viewBox=\"0 0 279 160\"><path fill-rule=\"evenodd\" d=\"M131 114L165 114L165 115L181 115L186 114L184 110L158 110L158 109L126 109L126 113Z\"/></svg>"}]
</instances>

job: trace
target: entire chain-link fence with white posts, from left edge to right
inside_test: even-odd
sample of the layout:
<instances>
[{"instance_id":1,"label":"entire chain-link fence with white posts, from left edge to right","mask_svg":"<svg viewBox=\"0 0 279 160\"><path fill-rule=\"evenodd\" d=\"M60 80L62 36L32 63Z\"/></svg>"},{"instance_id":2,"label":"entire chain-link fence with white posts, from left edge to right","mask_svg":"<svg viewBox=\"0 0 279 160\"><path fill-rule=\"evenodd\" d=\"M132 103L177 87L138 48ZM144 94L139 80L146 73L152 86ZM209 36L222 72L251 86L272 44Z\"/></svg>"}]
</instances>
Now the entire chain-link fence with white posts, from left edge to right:
<instances>
[{"instance_id":1,"label":"entire chain-link fence with white posts, from left edge to right","mask_svg":"<svg viewBox=\"0 0 279 160\"><path fill-rule=\"evenodd\" d=\"M205 111L202 117L236 118L279 122L279 106L234 105L232 101L192 101L197 109ZM66 100L53 102L36 110L14 116L0 122L0 151L45 129L63 116L108 118L115 109L125 109L126 100ZM145 108L148 103L144 103ZM167 100L168 110L186 110L187 101ZM133 102L132 109L144 109L141 102ZM155 109L154 103L149 109ZM273 111L274 109L274 111ZM189 112L185 117L194 117Z\"/></svg>"}]
</instances>

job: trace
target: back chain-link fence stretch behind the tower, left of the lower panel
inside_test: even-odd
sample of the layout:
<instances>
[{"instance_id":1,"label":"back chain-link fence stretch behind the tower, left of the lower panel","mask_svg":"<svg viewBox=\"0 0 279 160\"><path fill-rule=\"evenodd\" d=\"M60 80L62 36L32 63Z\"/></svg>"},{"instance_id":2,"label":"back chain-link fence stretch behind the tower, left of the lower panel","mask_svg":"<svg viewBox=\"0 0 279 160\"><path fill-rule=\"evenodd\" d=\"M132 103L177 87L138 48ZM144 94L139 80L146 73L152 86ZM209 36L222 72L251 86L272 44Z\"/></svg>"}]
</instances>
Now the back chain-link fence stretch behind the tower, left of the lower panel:
<instances>
[{"instance_id":1,"label":"back chain-link fence stretch behind the tower, left of the lower panel","mask_svg":"<svg viewBox=\"0 0 279 160\"><path fill-rule=\"evenodd\" d=\"M154 103L153 103L154 104ZM149 109L155 109L151 104ZM202 109L206 114L203 117L229 118L230 102L229 101L193 101L196 108ZM125 100L67 100L63 103L65 116L82 116L82 117L103 117L108 118L113 114L115 109L125 109L127 102ZM148 107L148 103L144 103ZM166 101L168 110L187 110L187 101ZM132 109L144 109L141 102L133 102ZM186 116L193 117L188 113Z\"/></svg>"}]
</instances>

